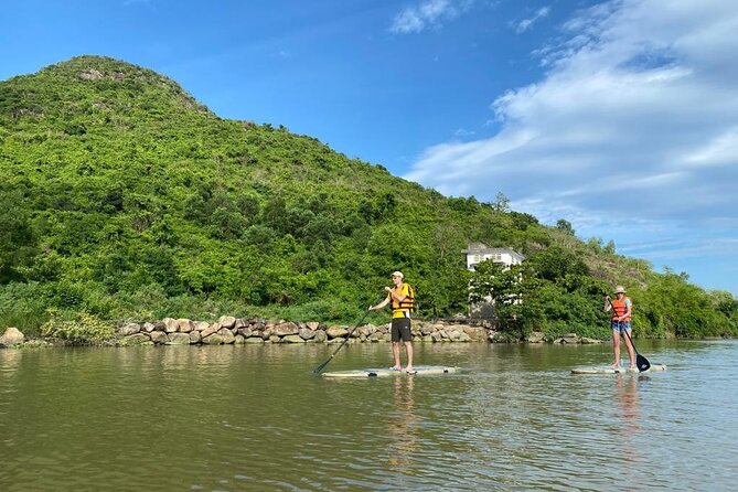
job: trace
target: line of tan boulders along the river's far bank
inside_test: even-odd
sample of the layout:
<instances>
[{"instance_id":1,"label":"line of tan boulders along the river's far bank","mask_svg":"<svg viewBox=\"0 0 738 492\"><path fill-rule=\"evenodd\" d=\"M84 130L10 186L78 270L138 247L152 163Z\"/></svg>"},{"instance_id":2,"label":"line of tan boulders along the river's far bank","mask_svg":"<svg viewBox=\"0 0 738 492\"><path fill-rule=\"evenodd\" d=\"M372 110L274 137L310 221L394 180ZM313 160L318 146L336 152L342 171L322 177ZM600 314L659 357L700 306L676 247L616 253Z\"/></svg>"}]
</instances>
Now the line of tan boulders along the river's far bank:
<instances>
[{"instance_id":1,"label":"line of tan boulders along the river's far bank","mask_svg":"<svg viewBox=\"0 0 738 492\"><path fill-rule=\"evenodd\" d=\"M388 342L389 323L353 327L325 325L319 322L269 321L224 315L216 322L164 318L161 321L126 323L117 329L116 336L101 345L223 345L252 343L349 343ZM468 321L421 321L413 323L416 342L517 342L489 325L470 324ZM8 328L0 336L0 347L55 345L55 340L26 340L15 328ZM558 339L547 339L543 333L531 333L527 343L602 343L601 340L569 333ZM64 343L61 343L64 344Z\"/></svg>"}]
</instances>

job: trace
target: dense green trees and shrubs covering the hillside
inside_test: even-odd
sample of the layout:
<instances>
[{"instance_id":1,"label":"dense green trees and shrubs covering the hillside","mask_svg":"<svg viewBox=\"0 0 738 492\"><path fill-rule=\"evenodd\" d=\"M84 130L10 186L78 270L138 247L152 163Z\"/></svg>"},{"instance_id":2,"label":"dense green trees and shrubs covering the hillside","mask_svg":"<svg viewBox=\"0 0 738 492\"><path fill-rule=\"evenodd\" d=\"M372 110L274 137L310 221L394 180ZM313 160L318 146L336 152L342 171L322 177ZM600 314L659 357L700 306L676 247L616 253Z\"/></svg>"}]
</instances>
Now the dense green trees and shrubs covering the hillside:
<instances>
[{"instance_id":1,"label":"dense green trees and shrubs covering the hillside","mask_svg":"<svg viewBox=\"0 0 738 492\"><path fill-rule=\"evenodd\" d=\"M396 269L420 315L448 317L468 308L470 242L528 257L506 287L526 301L500 309L512 333L607 336L618 282L637 334L738 334L729 293L582 243L565 220L546 227L503 195L445 197L284 127L221 119L106 57L0 83L0 327L30 334L224 313L350 322Z\"/></svg>"}]
</instances>

